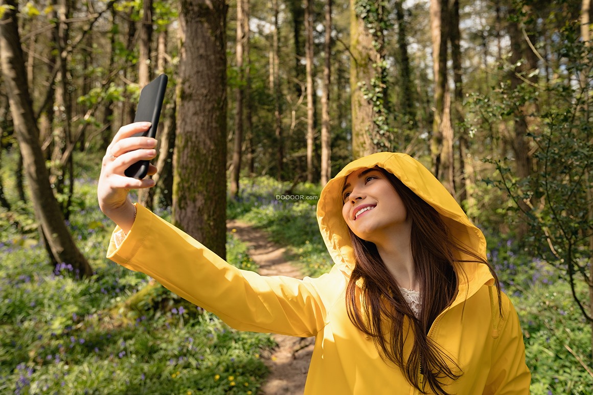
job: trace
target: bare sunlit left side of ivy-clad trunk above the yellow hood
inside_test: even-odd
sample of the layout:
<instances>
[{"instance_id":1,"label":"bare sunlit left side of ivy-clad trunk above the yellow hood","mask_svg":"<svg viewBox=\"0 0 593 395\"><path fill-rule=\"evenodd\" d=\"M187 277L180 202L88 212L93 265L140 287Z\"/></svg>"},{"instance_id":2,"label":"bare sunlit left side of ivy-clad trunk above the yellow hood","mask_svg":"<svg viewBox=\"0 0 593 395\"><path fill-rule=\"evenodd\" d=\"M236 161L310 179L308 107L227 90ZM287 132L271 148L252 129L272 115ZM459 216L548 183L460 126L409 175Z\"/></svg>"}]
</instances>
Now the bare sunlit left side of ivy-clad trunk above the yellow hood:
<instances>
[{"instance_id":1,"label":"bare sunlit left side of ivy-clad trunk above the yellow hood","mask_svg":"<svg viewBox=\"0 0 593 395\"><path fill-rule=\"evenodd\" d=\"M375 152L371 140L375 125L372 104L362 93L360 84L371 87L374 76L373 63L379 58L372 45L372 36L364 22L356 15L356 0L350 0L350 106L352 112L352 156L364 157Z\"/></svg>"}]
</instances>

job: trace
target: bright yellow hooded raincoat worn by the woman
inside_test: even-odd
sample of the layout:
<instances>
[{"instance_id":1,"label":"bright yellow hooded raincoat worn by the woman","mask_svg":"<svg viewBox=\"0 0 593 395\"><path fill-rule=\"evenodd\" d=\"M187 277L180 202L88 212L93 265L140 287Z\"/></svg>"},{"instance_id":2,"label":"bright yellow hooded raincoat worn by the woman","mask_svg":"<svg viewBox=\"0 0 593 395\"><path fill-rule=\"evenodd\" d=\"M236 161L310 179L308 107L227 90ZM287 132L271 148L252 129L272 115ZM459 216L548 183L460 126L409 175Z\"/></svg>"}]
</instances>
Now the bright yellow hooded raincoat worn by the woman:
<instances>
[{"instance_id":1,"label":"bright yellow hooded raincoat worn by the woman","mask_svg":"<svg viewBox=\"0 0 593 395\"><path fill-rule=\"evenodd\" d=\"M395 174L441 214L458 239L485 256L482 232L441 183L408 155L382 152L348 164L321 192L317 218L335 265L319 278L264 277L239 270L142 206L119 248L112 238L107 257L152 276L236 329L315 336L305 394L417 394L346 311L345 289L354 259L341 192L349 173L375 165ZM488 268L459 265L465 275L458 276L457 298L428 334L463 370L445 389L459 395L528 394L530 372L514 307L502 294L501 317Z\"/></svg>"}]
</instances>

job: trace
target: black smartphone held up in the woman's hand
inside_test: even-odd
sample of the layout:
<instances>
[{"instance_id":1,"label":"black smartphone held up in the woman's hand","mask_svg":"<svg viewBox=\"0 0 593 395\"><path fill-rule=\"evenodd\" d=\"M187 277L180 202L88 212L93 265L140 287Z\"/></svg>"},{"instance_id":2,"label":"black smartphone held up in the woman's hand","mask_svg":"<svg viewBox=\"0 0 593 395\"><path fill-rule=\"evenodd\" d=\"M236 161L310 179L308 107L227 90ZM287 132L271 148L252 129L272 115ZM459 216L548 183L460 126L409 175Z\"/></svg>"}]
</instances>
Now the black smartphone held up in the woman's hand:
<instances>
[{"instance_id":1,"label":"black smartphone held up in the woman's hand","mask_svg":"<svg viewBox=\"0 0 593 395\"><path fill-rule=\"evenodd\" d=\"M146 132L136 133L134 136L148 136L155 138L157 135L158 119L161 116L162 100L165 97L165 89L167 88L167 75L161 74L153 79L150 84L146 85L140 91L140 100L136 108L136 117L134 122L148 121L152 122L151 127ZM144 179L148 173L148 161L138 161L130 165L124 171L127 177L135 179Z\"/></svg>"}]
</instances>

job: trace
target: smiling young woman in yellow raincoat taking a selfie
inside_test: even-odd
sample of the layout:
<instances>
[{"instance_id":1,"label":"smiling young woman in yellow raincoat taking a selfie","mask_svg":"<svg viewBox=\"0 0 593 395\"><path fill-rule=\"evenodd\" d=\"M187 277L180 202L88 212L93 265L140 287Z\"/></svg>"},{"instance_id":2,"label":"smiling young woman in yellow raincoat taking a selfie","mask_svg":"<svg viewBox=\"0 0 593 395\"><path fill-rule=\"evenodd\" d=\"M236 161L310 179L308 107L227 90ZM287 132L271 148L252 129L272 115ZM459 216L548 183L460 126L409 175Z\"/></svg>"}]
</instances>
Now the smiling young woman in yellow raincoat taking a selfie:
<instances>
[{"instance_id":1,"label":"smiling young woman in yellow raincoat taking a selfie","mask_svg":"<svg viewBox=\"0 0 593 395\"><path fill-rule=\"evenodd\" d=\"M111 260L236 329L315 336L307 394L529 393L517 313L484 236L416 160L382 152L348 164L317 207L331 271L264 277L127 199L153 185L123 174L156 155L153 139L131 137L146 127L124 126L103 159L98 199L118 225Z\"/></svg>"}]
</instances>

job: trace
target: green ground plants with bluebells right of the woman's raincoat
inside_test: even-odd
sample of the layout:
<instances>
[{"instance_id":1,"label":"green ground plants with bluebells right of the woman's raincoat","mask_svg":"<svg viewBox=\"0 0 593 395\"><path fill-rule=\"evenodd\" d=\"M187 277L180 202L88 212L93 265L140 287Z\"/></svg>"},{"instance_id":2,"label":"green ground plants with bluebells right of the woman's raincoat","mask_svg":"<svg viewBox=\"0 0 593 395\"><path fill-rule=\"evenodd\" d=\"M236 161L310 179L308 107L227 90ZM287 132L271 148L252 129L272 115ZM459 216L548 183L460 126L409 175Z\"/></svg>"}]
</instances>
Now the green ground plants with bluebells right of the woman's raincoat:
<instances>
[{"instance_id":1,"label":"green ground plants with bluebells right of the woman's raincoat","mask_svg":"<svg viewBox=\"0 0 593 395\"><path fill-rule=\"evenodd\" d=\"M488 239L489 260L521 321L531 393L593 393L584 368L593 362L591 326L572 301L569 283L552 263L517 253L511 241ZM578 292L585 292L584 284Z\"/></svg>"}]
</instances>

